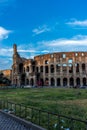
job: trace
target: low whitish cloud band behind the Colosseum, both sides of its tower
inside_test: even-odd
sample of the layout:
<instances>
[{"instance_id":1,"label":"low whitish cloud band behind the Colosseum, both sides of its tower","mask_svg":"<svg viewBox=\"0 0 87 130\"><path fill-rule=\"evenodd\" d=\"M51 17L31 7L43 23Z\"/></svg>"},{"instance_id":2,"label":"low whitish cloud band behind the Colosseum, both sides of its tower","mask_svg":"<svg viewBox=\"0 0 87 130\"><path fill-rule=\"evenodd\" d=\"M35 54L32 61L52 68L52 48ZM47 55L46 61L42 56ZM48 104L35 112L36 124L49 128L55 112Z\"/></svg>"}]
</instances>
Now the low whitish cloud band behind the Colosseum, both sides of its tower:
<instances>
[{"instance_id":1,"label":"low whitish cloud band behind the Colosseum, both sides of its tower","mask_svg":"<svg viewBox=\"0 0 87 130\"><path fill-rule=\"evenodd\" d=\"M49 41L38 41L18 46L18 53L27 59L37 55L54 52L87 51L87 35L76 35L71 38L61 38ZM0 69L8 69L12 65L13 48L0 48Z\"/></svg>"}]
</instances>

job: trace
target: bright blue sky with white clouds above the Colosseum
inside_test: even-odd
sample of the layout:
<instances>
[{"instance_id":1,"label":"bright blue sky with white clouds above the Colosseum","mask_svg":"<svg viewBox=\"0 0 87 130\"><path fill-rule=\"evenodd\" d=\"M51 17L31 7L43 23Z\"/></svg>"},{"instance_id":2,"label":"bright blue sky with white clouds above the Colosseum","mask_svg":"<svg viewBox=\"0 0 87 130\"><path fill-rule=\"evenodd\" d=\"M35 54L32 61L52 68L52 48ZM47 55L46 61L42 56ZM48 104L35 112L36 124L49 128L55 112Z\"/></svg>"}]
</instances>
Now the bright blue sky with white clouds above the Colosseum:
<instances>
[{"instance_id":1,"label":"bright blue sky with white clouds above the Colosseum","mask_svg":"<svg viewBox=\"0 0 87 130\"><path fill-rule=\"evenodd\" d=\"M11 69L14 43L27 59L87 51L87 0L0 0L0 70Z\"/></svg>"}]
</instances>

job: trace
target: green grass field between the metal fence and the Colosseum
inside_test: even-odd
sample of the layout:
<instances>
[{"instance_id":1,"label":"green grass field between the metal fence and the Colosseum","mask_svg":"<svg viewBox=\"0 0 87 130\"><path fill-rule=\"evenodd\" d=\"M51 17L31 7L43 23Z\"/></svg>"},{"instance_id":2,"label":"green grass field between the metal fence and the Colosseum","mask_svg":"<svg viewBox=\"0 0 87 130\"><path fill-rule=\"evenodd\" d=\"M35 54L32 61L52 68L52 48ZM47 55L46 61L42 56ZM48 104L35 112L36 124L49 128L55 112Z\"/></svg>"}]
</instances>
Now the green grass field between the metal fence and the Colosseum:
<instances>
[{"instance_id":1,"label":"green grass field between the metal fence and the Colosseum","mask_svg":"<svg viewBox=\"0 0 87 130\"><path fill-rule=\"evenodd\" d=\"M0 100L87 119L87 89L30 88L0 90Z\"/></svg>"}]
</instances>

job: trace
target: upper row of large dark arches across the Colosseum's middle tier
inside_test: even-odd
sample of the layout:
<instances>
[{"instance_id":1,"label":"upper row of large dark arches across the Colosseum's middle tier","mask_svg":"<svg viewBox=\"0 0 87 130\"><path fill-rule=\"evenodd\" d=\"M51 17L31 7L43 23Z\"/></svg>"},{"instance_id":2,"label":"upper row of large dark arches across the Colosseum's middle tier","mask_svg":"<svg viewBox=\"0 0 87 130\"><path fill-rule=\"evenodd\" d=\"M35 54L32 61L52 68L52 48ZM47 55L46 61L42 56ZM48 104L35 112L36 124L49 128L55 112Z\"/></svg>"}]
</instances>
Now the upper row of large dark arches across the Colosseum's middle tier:
<instances>
[{"instance_id":1,"label":"upper row of large dark arches across the Colosseum's middle tier","mask_svg":"<svg viewBox=\"0 0 87 130\"><path fill-rule=\"evenodd\" d=\"M67 71L67 64L63 64L63 65L60 65L60 64L56 64L56 72L60 71L60 66L62 66L62 70L63 71ZM49 69L50 67L50 69ZM72 73L73 72L73 64L69 64L69 72ZM81 68L80 68L80 65L79 63L76 63L75 64L75 67L76 67L76 72L79 72L80 69L82 69L82 71L85 71L86 70L86 65L84 63L81 64ZM46 66L40 66L40 67L36 67L36 72L43 72L43 69L45 68L45 73L49 73L49 71L51 73L54 73L55 71L55 66L52 64L50 66L46 65ZM33 69L33 68L32 68ZM19 64L19 72L29 72L30 71L30 67L29 66L26 66L23 68L23 64Z\"/></svg>"}]
</instances>

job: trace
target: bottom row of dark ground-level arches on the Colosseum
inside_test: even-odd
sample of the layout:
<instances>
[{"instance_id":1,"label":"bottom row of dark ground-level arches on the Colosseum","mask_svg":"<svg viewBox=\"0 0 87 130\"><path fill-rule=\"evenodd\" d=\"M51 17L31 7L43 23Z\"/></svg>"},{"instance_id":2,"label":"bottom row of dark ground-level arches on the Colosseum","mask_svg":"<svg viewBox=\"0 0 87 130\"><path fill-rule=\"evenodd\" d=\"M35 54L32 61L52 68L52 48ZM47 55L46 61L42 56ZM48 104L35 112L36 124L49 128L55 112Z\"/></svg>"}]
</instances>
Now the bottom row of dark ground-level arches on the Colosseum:
<instances>
[{"instance_id":1,"label":"bottom row of dark ground-level arches on the Colosseum","mask_svg":"<svg viewBox=\"0 0 87 130\"><path fill-rule=\"evenodd\" d=\"M49 86L49 85L50 86L55 86L55 82L56 82L56 86L61 86L61 80L62 80L62 85L63 86L67 86L68 82L69 82L69 86L75 86L73 77L69 78L69 81L68 81L67 78L63 78L63 79L57 78L56 81L55 81L54 78L51 78L50 81L49 81L49 78L45 78L45 81L43 79L39 79L39 81L36 81L36 84L38 86L44 86L44 85L46 85L46 86ZM80 78L76 78L75 82L76 82L77 86L81 85L81 79ZM83 84L83 86L85 86L87 84L87 81L86 81L85 77L82 78L82 84ZM34 85L33 78L30 79L30 80L26 79L26 85L32 85L33 86Z\"/></svg>"}]
</instances>

